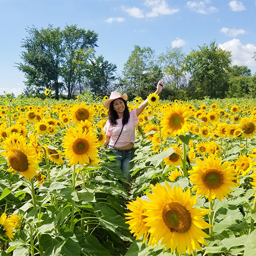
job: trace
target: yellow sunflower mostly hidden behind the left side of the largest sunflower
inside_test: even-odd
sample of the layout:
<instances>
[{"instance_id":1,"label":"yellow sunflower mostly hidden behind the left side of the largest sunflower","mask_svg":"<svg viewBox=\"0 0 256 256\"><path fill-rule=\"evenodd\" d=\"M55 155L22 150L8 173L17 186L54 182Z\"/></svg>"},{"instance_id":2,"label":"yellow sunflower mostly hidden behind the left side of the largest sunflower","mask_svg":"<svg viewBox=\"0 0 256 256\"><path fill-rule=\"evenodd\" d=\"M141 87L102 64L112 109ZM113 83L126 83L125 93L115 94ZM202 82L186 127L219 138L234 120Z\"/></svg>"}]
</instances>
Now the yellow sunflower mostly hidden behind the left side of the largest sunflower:
<instances>
[{"instance_id":1,"label":"yellow sunflower mostly hidden behind the left side of the largest sunflower","mask_svg":"<svg viewBox=\"0 0 256 256\"><path fill-rule=\"evenodd\" d=\"M128 214L125 214L128 221L126 221L127 224L129 224L129 229L131 229L131 233L133 233L133 236L136 237L136 240L141 238L143 236L142 243L145 243L150 233L148 230L150 227L145 226L145 216L144 212L146 211L146 208L144 207L144 200L141 200L139 197L136 198L136 201L129 202L127 204L127 208L131 211ZM147 245L154 245L157 241L155 241L154 236L150 236L150 241Z\"/></svg>"}]
</instances>

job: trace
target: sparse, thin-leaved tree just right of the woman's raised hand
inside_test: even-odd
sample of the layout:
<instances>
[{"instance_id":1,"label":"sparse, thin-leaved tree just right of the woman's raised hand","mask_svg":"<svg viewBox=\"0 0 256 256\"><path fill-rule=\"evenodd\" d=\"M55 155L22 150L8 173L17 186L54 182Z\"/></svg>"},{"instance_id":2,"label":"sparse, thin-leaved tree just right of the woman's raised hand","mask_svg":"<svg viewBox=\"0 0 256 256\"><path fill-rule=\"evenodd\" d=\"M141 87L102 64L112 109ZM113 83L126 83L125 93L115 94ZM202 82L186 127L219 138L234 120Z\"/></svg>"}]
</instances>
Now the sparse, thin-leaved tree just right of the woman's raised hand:
<instances>
[{"instance_id":1,"label":"sparse, thin-leaved tree just right of the woman's raised hand","mask_svg":"<svg viewBox=\"0 0 256 256\"><path fill-rule=\"evenodd\" d=\"M186 74L184 72L184 60L186 58L182 47L166 48L164 53L158 56L159 65L164 74L168 77L168 82L175 84L176 89L186 84Z\"/></svg>"}]
</instances>

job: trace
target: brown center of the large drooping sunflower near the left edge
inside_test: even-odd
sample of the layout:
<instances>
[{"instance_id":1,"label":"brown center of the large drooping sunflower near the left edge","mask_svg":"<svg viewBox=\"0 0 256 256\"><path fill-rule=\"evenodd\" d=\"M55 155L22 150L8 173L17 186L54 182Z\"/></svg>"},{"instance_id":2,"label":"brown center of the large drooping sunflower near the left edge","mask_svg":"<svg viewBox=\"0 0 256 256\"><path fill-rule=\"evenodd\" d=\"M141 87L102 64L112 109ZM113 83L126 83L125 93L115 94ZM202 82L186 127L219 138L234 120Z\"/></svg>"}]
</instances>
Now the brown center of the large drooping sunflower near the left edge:
<instances>
[{"instance_id":1,"label":"brown center of the large drooping sunflower near the left edge","mask_svg":"<svg viewBox=\"0 0 256 256\"><path fill-rule=\"evenodd\" d=\"M26 172L29 167L27 156L20 150L12 150L12 154L8 157L9 164L17 172Z\"/></svg>"}]
</instances>

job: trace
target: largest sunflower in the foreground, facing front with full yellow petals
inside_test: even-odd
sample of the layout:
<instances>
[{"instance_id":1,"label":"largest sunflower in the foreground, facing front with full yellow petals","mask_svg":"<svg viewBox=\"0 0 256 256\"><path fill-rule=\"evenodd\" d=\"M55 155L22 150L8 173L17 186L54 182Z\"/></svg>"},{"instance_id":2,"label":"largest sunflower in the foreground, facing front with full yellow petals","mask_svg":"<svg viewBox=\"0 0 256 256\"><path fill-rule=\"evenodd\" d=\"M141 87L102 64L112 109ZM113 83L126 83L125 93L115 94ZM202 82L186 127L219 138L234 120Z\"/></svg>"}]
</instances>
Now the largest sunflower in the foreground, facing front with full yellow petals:
<instances>
[{"instance_id":1,"label":"largest sunflower in the foreground, facing front with full yellow petals","mask_svg":"<svg viewBox=\"0 0 256 256\"><path fill-rule=\"evenodd\" d=\"M158 183L151 188L153 194L146 193L151 201L144 202L146 218L143 221L150 227L154 239L172 252L177 249L179 254L201 250L199 243L206 245L204 238L209 238L202 231L210 227L203 220L209 210L193 208L197 200L196 196L191 197L190 189L184 193L181 187L172 189L166 181L165 186Z\"/></svg>"}]
</instances>

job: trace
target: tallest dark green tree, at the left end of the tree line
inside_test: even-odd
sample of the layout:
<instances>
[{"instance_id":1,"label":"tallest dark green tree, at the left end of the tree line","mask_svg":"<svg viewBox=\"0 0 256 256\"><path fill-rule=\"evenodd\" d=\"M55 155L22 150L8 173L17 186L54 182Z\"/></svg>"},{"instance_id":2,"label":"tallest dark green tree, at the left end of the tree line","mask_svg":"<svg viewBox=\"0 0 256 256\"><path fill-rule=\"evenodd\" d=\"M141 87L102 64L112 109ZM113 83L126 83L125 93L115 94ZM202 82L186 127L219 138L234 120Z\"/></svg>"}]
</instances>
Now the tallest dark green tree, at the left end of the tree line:
<instances>
[{"instance_id":1,"label":"tallest dark green tree, at the left end of the tree line","mask_svg":"<svg viewBox=\"0 0 256 256\"><path fill-rule=\"evenodd\" d=\"M32 27L27 32L29 36L22 44L25 48L21 55L24 63L17 63L27 78L26 86L35 88L37 93L48 88L55 92L56 99L60 90L66 89L70 98L79 78L75 72L77 63L73 61L76 53L97 47L98 35L75 25L66 26L64 30L52 25L40 30Z\"/></svg>"}]
</instances>

